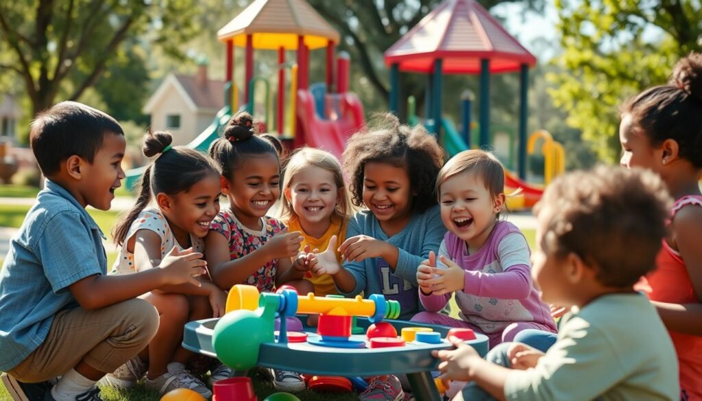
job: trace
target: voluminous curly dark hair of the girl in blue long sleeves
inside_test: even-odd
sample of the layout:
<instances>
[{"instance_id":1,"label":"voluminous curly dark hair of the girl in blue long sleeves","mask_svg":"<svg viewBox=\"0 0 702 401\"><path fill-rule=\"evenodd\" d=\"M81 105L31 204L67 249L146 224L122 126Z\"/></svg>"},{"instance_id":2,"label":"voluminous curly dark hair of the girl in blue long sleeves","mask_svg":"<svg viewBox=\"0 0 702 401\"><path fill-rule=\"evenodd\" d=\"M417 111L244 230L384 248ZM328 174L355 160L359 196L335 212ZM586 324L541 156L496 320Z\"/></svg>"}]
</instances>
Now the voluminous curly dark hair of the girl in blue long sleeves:
<instances>
[{"instance_id":1,"label":"voluminous curly dark hair of the girl in blue long sleeves","mask_svg":"<svg viewBox=\"0 0 702 401\"><path fill-rule=\"evenodd\" d=\"M413 211L422 213L437 204L437 174L444 164L444 150L423 126L402 125L395 114L380 114L371 128L352 136L343 155L343 169L350 180L351 201L363 204L364 167L383 162L405 167L413 193Z\"/></svg>"}]
</instances>

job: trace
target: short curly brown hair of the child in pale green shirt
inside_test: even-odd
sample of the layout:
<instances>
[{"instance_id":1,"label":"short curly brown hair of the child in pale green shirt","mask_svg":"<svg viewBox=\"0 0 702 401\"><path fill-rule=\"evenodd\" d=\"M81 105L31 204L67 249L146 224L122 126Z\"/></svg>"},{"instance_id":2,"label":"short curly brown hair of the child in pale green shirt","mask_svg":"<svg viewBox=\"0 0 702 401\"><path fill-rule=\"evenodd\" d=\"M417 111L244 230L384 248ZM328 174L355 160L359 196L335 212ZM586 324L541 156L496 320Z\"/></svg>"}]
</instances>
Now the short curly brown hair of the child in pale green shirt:
<instances>
[{"instance_id":1,"label":"short curly brown hair of the child in pale green shirt","mask_svg":"<svg viewBox=\"0 0 702 401\"><path fill-rule=\"evenodd\" d=\"M671 205L651 171L574 171L554 180L534 208L545 220L540 246L558 257L578 255L607 287L628 287L656 267Z\"/></svg>"}]
</instances>

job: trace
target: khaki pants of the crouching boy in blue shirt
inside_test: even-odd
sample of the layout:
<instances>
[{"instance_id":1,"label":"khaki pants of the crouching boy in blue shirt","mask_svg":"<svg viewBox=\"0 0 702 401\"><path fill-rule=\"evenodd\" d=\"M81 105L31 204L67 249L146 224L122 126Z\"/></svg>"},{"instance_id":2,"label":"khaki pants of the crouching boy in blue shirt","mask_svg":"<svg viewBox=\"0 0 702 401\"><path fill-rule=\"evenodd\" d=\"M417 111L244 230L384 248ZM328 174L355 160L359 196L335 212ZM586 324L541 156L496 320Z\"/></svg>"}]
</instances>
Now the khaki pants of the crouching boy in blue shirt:
<instances>
[{"instance_id":1,"label":"khaki pants of the crouching boy in blue shirt","mask_svg":"<svg viewBox=\"0 0 702 401\"><path fill-rule=\"evenodd\" d=\"M44 343L8 374L37 383L65 374L81 360L100 372L114 372L148 345L158 327L156 308L142 299L98 310L62 310Z\"/></svg>"}]
</instances>

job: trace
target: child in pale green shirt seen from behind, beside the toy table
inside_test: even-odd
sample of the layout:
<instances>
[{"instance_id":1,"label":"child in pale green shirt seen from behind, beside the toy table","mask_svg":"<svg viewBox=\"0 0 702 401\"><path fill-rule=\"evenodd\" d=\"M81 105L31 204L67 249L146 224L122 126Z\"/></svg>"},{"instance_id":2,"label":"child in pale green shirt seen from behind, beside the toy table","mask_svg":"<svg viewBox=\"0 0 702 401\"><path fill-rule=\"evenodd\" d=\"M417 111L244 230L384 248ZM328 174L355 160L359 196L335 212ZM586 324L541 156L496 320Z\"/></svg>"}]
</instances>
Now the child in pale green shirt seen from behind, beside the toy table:
<instances>
[{"instance_id":1,"label":"child in pale green shirt seen from behind, beside the toy table","mask_svg":"<svg viewBox=\"0 0 702 401\"><path fill-rule=\"evenodd\" d=\"M646 296L634 291L656 266L670 207L653 173L598 167L557 178L535 213L531 272L543 301L573 307L544 354L502 343L482 359L432 353L444 380L472 381L457 400L678 400L670 336Z\"/></svg>"}]
</instances>

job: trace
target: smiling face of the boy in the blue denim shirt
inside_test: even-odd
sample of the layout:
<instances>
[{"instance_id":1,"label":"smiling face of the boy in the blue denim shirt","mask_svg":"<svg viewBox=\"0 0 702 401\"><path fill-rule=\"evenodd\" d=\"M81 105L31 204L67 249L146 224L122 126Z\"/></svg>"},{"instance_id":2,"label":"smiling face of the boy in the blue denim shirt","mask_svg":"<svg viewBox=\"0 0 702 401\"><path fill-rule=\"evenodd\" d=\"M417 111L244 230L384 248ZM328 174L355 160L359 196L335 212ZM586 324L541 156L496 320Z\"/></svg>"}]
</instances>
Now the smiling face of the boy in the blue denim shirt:
<instances>
[{"instance_id":1,"label":"smiling face of the boy in the blue denim shirt","mask_svg":"<svg viewBox=\"0 0 702 401\"><path fill-rule=\"evenodd\" d=\"M124 136L107 132L93 163L84 162L81 166L80 198L77 199L82 199L84 206L89 204L95 209L110 209L114 190L121 186L121 180L125 177L121 167L125 148Z\"/></svg>"}]
</instances>

